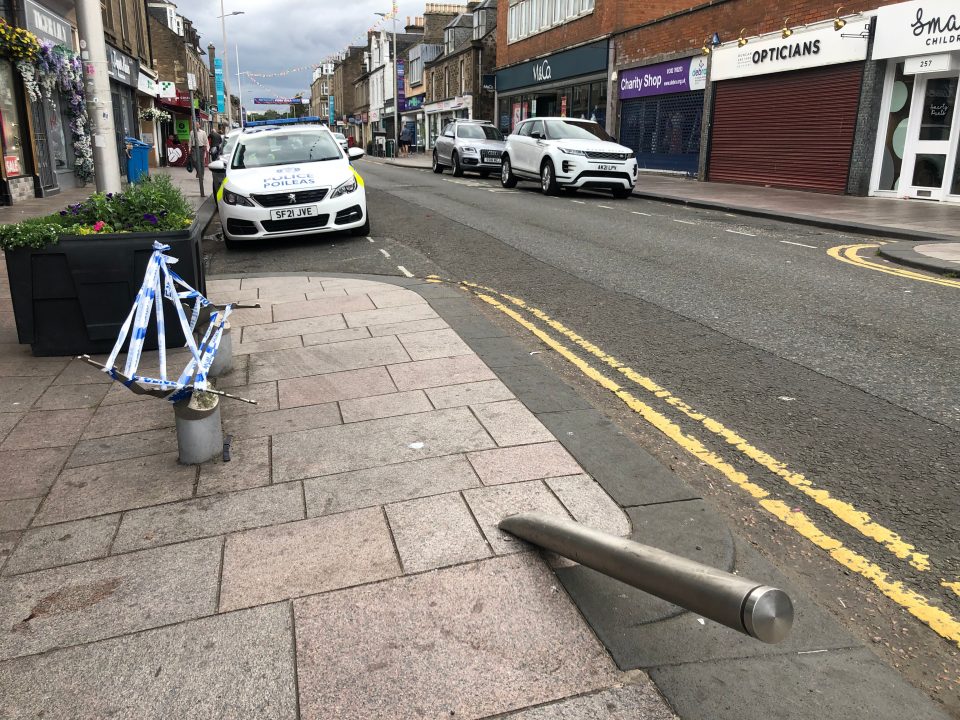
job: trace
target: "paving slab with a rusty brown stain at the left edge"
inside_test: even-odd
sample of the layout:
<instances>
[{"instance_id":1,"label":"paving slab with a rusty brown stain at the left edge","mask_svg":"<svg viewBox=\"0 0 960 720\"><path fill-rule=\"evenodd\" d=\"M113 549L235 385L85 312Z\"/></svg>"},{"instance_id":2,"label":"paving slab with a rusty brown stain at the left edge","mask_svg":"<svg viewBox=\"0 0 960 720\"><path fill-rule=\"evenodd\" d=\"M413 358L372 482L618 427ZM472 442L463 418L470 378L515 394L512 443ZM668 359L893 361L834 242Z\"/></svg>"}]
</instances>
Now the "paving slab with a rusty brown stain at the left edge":
<instances>
[{"instance_id":1,"label":"paving slab with a rusty brown stain at the left edge","mask_svg":"<svg viewBox=\"0 0 960 720\"><path fill-rule=\"evenodd\" d=\"M221 540L0 578L0 658L182 622L216 610Z\"/></svg>"}]
</instances>

